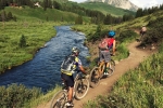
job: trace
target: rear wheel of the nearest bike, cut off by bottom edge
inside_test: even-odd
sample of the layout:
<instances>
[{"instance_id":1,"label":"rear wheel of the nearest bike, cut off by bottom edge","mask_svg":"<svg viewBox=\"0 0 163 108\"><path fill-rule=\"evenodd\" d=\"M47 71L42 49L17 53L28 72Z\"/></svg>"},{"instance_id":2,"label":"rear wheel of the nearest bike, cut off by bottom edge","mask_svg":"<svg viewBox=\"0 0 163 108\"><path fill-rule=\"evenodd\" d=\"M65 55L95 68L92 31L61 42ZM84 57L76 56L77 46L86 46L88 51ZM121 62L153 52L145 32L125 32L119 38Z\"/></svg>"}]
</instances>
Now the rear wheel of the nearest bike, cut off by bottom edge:
<instances>
[{"instance_id":1,"label":"rear wheel of the nearest bike, cut off by bottom edge","mask_svg":"<svg viewBox=\"0 0 163 108\"><path fill-rule=\"evenodd\" d=\"M67 92L62 90L52 97L50 108L64 108L66 102Z\"/></svg>"}]
</instances>

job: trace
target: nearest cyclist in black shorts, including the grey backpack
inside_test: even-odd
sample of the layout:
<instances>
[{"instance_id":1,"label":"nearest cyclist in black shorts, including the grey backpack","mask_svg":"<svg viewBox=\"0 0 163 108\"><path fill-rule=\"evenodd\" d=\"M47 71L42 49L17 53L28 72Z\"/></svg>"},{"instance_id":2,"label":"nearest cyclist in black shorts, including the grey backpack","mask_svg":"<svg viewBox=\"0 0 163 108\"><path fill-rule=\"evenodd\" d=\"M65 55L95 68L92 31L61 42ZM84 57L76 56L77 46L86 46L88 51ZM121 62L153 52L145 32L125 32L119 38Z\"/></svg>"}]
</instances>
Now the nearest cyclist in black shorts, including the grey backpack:
<instances>
[{"instance_id":1,"label":"nearest cyclist in black shorts, including the grey backpack","mask_svg":"<svg viewBox=\"0 0 163 108\"><path fill-rule=\"evenodd\" d=\"M74 77L73 75L75 73L75 71L82 71L83 73L86 75L86 71L82 65L82 60L78 58L79 55L79 50L74 46L72 49L72 54L68 55L68 58L66 58L66 60L64 60L61 65L61 78L64 81L64 83L66 84L67 89L68 89L68 98L67 98L67 103L66 106L68 107L73 107L73 92L74 92Z\"/></svg>"}]
</instances>

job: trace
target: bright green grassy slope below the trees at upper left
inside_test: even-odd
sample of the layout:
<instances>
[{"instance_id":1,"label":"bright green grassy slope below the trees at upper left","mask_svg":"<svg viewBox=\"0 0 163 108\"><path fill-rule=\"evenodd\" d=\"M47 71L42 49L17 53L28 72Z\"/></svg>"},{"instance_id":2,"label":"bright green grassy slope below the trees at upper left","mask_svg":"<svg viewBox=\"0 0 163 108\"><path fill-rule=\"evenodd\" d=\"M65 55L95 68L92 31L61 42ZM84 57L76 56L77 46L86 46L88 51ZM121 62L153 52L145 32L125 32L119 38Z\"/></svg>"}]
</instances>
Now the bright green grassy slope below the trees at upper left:
<instances>
[{"instance_id":1,"label":"bright green grassy slope below the trees at upper left","mask_svg":"<svg viewBox=\"0 0 163 108\"><path fill-rule=\"evenodd\" d=\"M53 21L53 22L74 22L78 16L75 13L64 12L55 9L47 9L43 11L42 8L30 9L28 6L25 8L11 8L7 6L4 9L7 13L11 12L17 19L40 19L40 21ZM2 11L1 11L2 12ZM89 18L84 19L88 21Z\"/></svg>"}]
</instances>

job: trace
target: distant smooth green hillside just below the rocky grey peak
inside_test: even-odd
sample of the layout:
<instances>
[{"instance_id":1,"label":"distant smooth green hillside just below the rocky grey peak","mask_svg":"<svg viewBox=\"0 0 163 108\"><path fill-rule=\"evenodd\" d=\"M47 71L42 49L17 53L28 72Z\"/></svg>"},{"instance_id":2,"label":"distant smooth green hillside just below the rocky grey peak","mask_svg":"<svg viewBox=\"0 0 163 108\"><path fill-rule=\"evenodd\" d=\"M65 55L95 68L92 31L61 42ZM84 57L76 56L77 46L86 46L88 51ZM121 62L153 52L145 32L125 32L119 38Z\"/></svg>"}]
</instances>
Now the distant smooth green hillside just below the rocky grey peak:
<instances>
[{"instance_id":1,"label":"distant smooth green hillside just below the rocky grey peak","mask_svg":"<svg viewBox=\"0 0 163 108\"><path fill-rule=\"evenodd\" d=\"M123 16L124 14L135 15L135 12L133 11L115 8L113 5L102 2L87 2L87 3L79 3L79 5L86 9L100 11L104 14L111 14L113 16Z\"/></svg>"}]
</instances>

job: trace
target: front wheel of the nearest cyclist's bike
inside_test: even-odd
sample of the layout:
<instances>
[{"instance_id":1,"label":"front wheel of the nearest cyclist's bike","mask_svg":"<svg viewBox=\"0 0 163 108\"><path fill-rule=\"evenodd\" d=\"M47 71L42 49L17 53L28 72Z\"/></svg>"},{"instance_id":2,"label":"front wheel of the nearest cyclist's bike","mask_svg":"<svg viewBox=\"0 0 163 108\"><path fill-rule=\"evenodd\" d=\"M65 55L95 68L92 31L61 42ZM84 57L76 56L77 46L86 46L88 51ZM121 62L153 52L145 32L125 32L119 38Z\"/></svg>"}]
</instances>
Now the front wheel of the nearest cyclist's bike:
<instances>
[{"instance_id":1,"label":"front wheel of the nearest cyclist's bike","mask_svg":"<svg viewBox=\"0 0 163 108\"><path fill-rule=\"evenodd\" d=\"M76 99L84 98L87 95L88 90L89 90L88 79L77 80L76 83L75 83L74 90L75 90L75 98Z\"/></svg>"}]
</instances>

